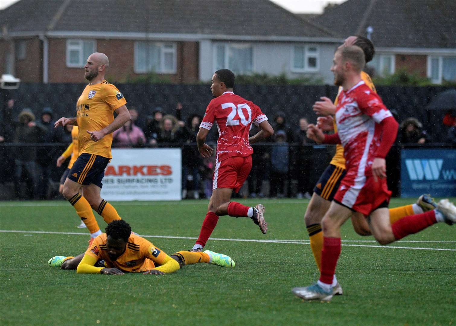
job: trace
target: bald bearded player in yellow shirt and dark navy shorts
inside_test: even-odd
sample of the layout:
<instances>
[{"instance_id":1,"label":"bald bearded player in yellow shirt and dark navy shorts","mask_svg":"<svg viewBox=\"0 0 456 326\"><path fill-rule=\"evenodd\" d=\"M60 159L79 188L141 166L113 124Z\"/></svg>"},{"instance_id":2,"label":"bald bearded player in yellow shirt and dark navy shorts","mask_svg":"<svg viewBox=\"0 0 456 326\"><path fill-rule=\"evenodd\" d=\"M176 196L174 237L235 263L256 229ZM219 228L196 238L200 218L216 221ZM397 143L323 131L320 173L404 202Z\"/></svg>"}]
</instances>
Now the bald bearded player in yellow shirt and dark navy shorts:
<instances>
[{"instance_id":1,"label":"bald bearded player in yellow shirt and dark navy shorts","mask_svg":"<svg viewBox=\"0 0 456 326\"><path fill-rule=\"evenodd\" d=\"M112 132L130 120L130 113L124 95L104 79L108 67L109 59L104 53L95 52L88 57L84 70L89 84L78 98L76 117L62 117L55 123L56 128L73 124L79 129L79 155L63 184L63 197L87 226L89 245L101 234L92 209L106 223L120 219L115 208L100 197L100 191L104 170L112 158Z\"/></svg>"}]
</instances>

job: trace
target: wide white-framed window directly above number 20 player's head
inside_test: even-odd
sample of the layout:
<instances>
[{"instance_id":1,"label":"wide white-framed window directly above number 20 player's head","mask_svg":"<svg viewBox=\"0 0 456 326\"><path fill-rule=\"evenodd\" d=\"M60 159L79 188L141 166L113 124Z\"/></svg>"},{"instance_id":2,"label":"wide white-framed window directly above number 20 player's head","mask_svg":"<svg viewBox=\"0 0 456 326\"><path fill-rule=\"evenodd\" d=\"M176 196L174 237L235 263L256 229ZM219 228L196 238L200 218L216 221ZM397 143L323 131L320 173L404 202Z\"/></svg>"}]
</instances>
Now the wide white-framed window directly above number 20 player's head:
<instances>
[{"instance_id":1,"label":"wide white-framed window directly above number 20 player's head","mask_svg":"<svg viewBox=\"0 0 456 326\"><path fill-rule=\"evenodd\" d=\"M214 62L215 70L229 69L234 73L252 73L253 47L245 43L217 43Z\"/></svg>"}]
</instances>

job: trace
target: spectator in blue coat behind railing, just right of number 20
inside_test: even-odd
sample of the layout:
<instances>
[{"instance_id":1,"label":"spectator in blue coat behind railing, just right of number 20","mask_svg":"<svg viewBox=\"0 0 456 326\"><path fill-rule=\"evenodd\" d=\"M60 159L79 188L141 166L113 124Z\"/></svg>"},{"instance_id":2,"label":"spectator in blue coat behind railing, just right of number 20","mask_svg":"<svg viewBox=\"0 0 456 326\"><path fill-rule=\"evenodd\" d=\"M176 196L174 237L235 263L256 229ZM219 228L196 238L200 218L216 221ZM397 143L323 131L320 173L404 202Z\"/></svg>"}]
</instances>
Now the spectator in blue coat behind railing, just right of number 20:
<instances>
[{"instance_id":1,"label":"spectator in blue coat behind railing, just right of number 20","mask_svg":"<svg viewBox=\"0 0 456 326\"><path fill-rule=\"evenodd\" d=\"M285 130L275 132L275 145L271 149L271 174L269 197L284 197L285 179L288 174L289 148Z\"/></svg>"}]
</instances>

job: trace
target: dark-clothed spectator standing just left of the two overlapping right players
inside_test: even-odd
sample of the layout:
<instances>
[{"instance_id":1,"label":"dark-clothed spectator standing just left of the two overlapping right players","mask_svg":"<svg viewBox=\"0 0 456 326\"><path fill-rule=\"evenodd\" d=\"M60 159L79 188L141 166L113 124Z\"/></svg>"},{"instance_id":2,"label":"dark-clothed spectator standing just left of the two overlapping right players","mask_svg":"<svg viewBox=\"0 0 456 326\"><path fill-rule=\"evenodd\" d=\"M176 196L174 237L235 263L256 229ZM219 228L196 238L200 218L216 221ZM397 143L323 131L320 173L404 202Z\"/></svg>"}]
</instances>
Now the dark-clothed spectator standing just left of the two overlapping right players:
<instances>
[{"instance_id":1,"label":"dark-clothed spectator standing just left of the two overlapping right players","mask_svg":"<svg viewBox=\"0 0 456 326\"><path fill-rule=\"evenodd\" d=\"M299 147L295 152L293 166L295 166L296 179L298 181L296 197L309 199L311 197L313 183L310 183L312 147L308 145L315 144L315 142L307 138L308 125L309 122L306 118L299 119L299 128L295 132L295 142Z\"/></svg>"}]
</instances>

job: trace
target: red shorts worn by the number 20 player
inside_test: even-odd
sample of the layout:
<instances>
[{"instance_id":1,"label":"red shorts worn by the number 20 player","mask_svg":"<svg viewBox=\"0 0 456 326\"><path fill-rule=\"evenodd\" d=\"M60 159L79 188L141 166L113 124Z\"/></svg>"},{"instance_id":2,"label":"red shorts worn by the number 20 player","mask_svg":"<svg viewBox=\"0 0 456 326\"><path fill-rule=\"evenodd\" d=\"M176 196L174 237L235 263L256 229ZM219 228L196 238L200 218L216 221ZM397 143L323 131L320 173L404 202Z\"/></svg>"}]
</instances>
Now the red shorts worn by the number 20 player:
<instances>
[{"instance_id":1,"label":"red shorts worn by the number 20 player","mask_svg":"<svg viewBox=\"0 0 456 326\"><path fill-rule=\"evenodd\" d=\"M212 190L231 188L238 192L252 169L252 155L232 156L217 162L212 175Z\"/></svg>"}]
</instances>

